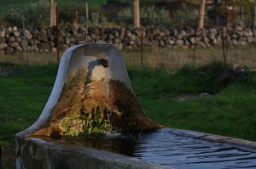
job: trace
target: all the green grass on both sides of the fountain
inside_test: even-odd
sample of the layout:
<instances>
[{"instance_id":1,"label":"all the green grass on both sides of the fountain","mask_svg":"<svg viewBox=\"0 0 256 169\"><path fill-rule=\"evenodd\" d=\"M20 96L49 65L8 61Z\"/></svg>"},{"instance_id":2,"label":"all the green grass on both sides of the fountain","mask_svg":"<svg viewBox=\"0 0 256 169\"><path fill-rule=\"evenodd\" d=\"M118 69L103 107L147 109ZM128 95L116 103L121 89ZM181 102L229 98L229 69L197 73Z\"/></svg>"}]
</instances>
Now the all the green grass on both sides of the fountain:
<instances>
[{"instance_id":1,"label":"all the green grass on both sides of the fountain","mask_svg":"<svg viewBox=\"0 0 256 169\"><path fill-rule=\"evenodd\" d=\"M17 67L15 75L0 77L3 168L14 167L15 133L38 119L49 99L58 65ZM144 66L128 65L127 69L137 99L153 121L166 127L256 141L256 85L252 79L225 87L217 81L225 67L217 62L207 65L203 72L195 65L172 73ZM199 93L212 95L178 99Z\"/></svg>"}]
</instances>

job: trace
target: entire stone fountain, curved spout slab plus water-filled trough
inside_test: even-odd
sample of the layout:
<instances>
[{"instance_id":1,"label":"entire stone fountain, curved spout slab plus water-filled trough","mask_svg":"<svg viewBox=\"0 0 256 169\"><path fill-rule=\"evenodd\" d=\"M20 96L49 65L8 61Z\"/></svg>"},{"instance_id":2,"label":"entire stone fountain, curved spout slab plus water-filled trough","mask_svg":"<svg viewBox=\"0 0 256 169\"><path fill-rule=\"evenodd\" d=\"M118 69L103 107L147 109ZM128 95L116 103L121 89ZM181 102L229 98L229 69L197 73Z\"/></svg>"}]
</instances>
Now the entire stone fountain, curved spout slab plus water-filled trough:
<instances>
[{"instance_id":1,"label":"entire stone fountain, curved spout slab plus water-filled trough","mask_svg":"<svg viewBox=\"0 0 256 169\"><path fill-rule=\"evenodd\" d=\"M68 48L38 121L16 134L16 168L255 168L253 142L163 127L137 102L119 50Z\"/></svg>"}]
</instances>

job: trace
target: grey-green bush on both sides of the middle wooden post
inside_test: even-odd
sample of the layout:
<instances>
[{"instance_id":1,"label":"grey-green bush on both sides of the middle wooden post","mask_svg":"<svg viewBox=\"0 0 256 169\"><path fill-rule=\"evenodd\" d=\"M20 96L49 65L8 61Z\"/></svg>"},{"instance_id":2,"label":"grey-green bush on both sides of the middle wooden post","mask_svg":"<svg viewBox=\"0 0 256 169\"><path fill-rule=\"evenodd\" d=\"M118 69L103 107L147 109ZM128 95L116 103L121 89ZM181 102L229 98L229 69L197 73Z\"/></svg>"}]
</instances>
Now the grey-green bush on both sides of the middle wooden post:
<instances>
[{"instance_id":1,"label":"grey-green bush on both sides of the middle wooden post","mask_svg":"<svg viewBox=\"0 0 256 169\"><path fill-rule=\"evenodd\" d=\"M140 10L140 19L142 25L169 25L170 17L165 9L155 8L154 6L143 7ZM123 25L133 24L133 14L131 8L125 8L118 14L118 20Z\"/></svg>"}]
</instances>

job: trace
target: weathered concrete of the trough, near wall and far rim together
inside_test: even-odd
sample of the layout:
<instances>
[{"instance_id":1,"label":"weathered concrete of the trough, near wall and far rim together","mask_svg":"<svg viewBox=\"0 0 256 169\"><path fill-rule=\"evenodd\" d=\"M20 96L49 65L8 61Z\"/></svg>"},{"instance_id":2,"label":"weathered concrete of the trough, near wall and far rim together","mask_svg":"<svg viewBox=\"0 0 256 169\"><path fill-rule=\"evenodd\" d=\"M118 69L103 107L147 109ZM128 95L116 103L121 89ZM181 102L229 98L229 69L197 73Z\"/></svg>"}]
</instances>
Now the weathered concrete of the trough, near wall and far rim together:
<instances>
[{"instance_id":1,"label":"weathered concrete of the trough, near wall and far rim together","mask_svg":"<svg viewBox=\"0 0 256 169\"><path fill-rule=\"evenodd\" d=\"M172 133L192 139L211 140L221 144L234 144L240 149L256 149L256 143L238 138L229 138L204 132L169 129ZM167 135L166 135L167 136ZM102 149L88 148L79 143L61 142L49 137L17 138L17 169L30 168L174 168L160 166L126 155ZM170 138L170 142L172 139ZM153 157L154 158L154 157ZM184 161L185 162L185 161Z\"/></svg>"}]
</instances>

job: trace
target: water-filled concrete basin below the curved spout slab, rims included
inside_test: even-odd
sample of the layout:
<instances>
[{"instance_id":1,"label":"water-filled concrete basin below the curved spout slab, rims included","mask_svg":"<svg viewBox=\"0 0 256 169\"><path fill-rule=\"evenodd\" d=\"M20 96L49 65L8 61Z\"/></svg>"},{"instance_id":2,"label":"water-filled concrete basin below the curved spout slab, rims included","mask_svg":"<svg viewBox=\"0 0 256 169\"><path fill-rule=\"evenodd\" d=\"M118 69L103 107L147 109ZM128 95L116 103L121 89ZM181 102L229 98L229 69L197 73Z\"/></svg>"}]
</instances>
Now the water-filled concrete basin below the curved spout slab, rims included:
<instances>
[{"instance_id":1,"label":"water-filled concrete basin below the curved spout slab, rims included","mask_svg":"<svg viewBox=\"0 0 256 169\"><path fill-rule=\"evenodd\" d=\"M255 142L167 127L100 139L28 137L17 143L17 164L23 168L256 167Z\"/></svg>"}]
</instances>

